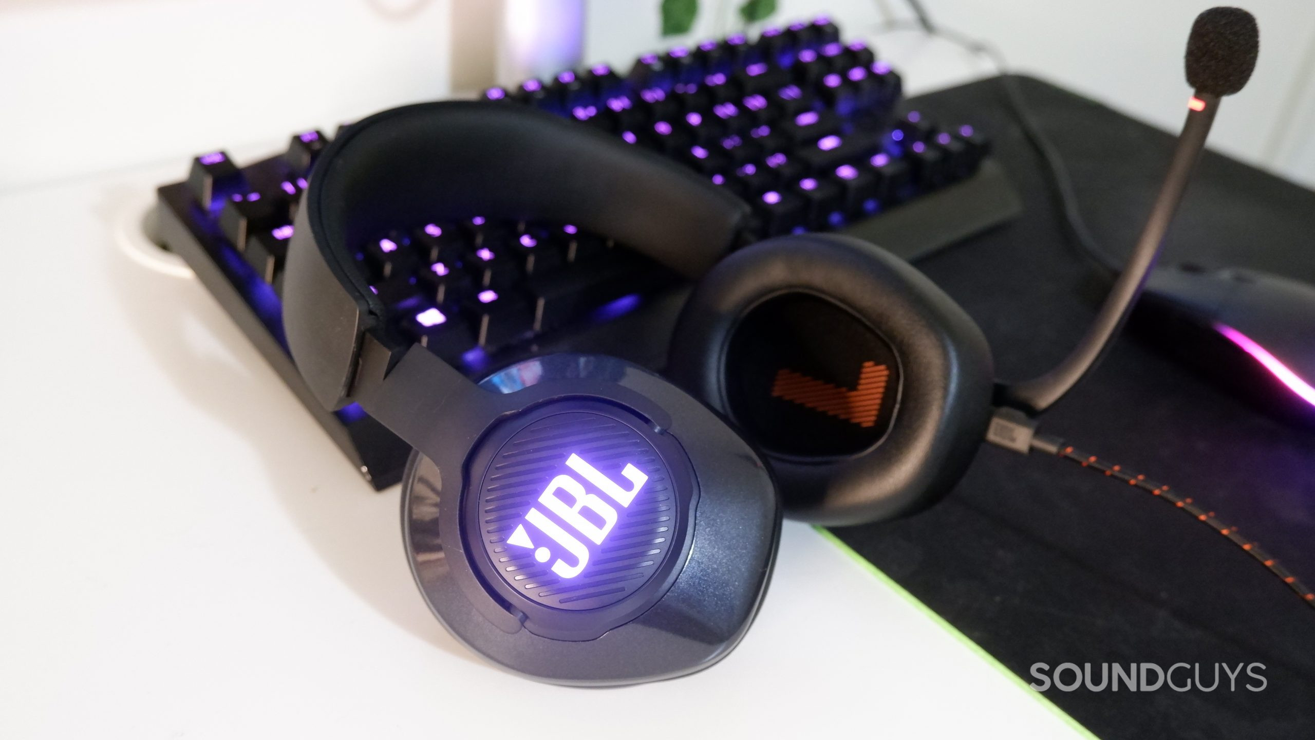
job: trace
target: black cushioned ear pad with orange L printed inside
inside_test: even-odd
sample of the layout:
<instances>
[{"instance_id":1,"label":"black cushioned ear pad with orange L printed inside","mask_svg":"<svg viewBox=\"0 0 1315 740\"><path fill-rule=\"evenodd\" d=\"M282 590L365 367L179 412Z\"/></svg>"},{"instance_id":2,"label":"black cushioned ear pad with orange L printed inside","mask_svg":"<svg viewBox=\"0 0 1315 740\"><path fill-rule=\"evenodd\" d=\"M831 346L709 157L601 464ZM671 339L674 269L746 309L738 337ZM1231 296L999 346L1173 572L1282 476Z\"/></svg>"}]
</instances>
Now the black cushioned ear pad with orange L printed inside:
<instances>
[{"instance_id":1,"label":"black cushioned ear pad with orange L printed inside","mask_svg":"<svg viewBox=\"0 0 1315 740\"><path fill-rule=\"evenodd\" d=\"M786 516L846 525L938 500L990 419L981 329L909 263L860 240L746 248L681 313L668 375L771 461Z\"/></svg>"}]
</instances>

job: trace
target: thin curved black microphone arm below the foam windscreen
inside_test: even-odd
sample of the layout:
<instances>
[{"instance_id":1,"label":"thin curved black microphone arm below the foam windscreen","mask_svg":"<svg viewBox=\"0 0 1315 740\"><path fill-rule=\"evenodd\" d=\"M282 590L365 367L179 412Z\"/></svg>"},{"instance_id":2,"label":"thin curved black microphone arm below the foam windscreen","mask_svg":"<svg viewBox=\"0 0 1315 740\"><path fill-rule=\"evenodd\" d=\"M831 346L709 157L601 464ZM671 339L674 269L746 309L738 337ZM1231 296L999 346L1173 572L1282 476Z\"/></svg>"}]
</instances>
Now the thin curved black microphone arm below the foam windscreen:
<instances>
[{"instance_id":1,"label":"thin curved black microphone arm below the foam windscreen","mask_svg":"<svg viewBox=\"0 0 1315 740\"><path fill-rule=\"evenodd\" d=\"M1206 136L1210 134L1210 125L1215 120L1219 108L1219 96L1201 92L1199 90L1187 104L1187 121L1178 134L1178 146L1174 149L1169 171L1160 186L1151 217L1147 220L1141 236L1137 238L1136 249L1123 267L1110 295L1106 296L1101 312L1086 330L1082 341L1073 348L1073 352L1057 366L1043 375L1007 386L1001 390L999 402L1036 416L1064 398L1105 357L1114 337L1118 336L1123 323L1127 321L1132 307L1141 295L1141 287L1155 267L1160 248L1164 244L1164 234L1178 211L1182 192L1187 187L1191 170L1206 146Z\"/></svg>"}]
</instances>

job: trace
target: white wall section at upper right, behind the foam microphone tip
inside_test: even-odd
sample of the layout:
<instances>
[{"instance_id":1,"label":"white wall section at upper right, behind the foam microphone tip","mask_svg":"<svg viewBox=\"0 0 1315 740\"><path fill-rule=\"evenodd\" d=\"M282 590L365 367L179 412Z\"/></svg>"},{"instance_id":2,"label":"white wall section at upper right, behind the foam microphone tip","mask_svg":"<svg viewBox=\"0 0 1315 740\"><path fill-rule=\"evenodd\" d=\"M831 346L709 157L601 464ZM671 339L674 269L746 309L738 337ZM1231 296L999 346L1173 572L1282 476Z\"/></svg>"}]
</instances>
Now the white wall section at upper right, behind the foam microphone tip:
<instances>
[{"instance_id":1,"label":"white wall section at upper right, behind the foam microphone tip","mask_svg":"<svg viewBox=\"0 0 1315 740\"><path fill-rule=\"evenodd\" d=\"M1261 54L1247 90L1220 109L1211 146L1315 187L1315 3L1236 0L1260 22ZM701 0L689 37L661 40L658 0L592 0L588 62L622 63L636 53L738 29L738 0ZM985 38L1019 71L1036 74L1169 130L1182 124L1190 90L1182 54L1208 0L924 0L945 28ZM951 45L914 32L878 33L911 18L902 0L778 0L773 20L826 12L847 37L873 42L926 92L989 72ZM721 9L721 13L718 13Z\"/></svg>"}]
</instances>

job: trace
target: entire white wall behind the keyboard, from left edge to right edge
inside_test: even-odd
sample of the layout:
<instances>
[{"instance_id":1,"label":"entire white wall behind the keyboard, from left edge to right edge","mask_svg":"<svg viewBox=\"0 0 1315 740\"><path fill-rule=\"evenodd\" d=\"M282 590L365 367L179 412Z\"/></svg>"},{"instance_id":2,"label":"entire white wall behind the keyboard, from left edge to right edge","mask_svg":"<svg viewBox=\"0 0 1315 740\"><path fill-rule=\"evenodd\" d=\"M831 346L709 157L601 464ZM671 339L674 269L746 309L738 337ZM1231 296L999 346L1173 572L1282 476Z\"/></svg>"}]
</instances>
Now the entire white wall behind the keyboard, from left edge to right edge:
<instances>
[{"instance_id":1,"label":"entire white wall behind the keyboard, from left edge to right edge","mask_svg":"<svg viewBox=\"0 0 1315 740\"><path fill-rule=\"evenodd\" d=\"M181 176L199 151L262 153L297 129L490 83L504 1L0 0L0 192L145 162L178 161ZM1182 120L1182 49L1210 4L924 1L1016 68L1165 129ZM584 61L629 66L642 51L725 34L739 28L739 3L701 0L690 38L663 40L659 0L586 0ZM1260 20L1260 63L1222 109L1211 146L1315 187L1315 3L1245 4ZM778 7L777 20L830 13L913 92L989 74L918 33L878 34L910 17L902 0Z\"/></svg>"}]
</instances>

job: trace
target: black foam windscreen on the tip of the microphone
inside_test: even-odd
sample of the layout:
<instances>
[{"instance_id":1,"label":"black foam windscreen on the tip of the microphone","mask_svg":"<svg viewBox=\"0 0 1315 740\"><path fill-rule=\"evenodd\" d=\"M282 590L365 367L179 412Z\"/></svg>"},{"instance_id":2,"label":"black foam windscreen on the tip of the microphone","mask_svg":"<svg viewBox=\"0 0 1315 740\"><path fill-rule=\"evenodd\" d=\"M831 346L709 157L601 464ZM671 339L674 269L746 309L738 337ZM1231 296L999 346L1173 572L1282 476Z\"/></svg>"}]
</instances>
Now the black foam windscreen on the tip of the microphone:
<instances>
[{"instance_id":1,"label":"black foam windscreen on the tip of the microphone","mask_svg":"<svg viewBox=\"0 0 1315 740\"><path fill-rule=\"evenodd\" d=\"M1260 54L1256 18L1241 8L1210 8L1197 16L1187 38L1187 84L1210 95L1232 95L1247 84Z\"/></svg>"}]
</instances>

